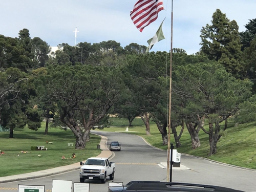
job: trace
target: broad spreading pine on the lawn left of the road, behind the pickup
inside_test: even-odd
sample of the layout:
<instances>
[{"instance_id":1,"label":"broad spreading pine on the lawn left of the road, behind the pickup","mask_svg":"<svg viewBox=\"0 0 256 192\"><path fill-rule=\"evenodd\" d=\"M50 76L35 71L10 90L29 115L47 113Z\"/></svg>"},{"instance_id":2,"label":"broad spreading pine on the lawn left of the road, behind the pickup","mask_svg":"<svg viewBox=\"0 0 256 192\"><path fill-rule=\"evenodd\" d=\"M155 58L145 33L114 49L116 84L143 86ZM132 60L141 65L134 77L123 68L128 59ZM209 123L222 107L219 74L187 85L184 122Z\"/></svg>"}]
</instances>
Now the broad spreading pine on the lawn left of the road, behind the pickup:
<instances>
[{"instance_id":1,"label":"broad spreading pine on the lawn left of the road, behind the pickup","mask_svg":"<svg viewBox=\"0 0 256 192\"><path fill-rule=\"evenodd\" d=\"M74 133L75 147L84 148L92 127L121 97L125 88L122 74L117 68L93 65L52 65L47 70L38 80L38 91L53 103L55 119Z\"/></svg>"}]
</instances>

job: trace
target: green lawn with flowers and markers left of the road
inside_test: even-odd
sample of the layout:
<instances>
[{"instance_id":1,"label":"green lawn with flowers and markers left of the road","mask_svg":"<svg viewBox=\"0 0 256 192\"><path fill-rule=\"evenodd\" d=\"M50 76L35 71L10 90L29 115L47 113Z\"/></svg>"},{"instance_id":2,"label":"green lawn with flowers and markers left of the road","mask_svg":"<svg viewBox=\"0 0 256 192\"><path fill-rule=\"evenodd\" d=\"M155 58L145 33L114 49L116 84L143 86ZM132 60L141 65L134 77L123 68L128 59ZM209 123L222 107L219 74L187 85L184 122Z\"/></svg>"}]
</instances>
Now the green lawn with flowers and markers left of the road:
<instances>
[{"instance_id":1,"label":"green lawn with flowers and markers left of the road","mask_svg":"<svg viewBox=\"0 0 256 192\"><path fill-rule=\"evenodd\" d=\"M13 139L9 138L9 132L0 132L0 150L5 153L0 156L0 177L68 165L101 153L101 150L97 149L101 139L99 136L91 134L86 150L75 150L76 138L71 130L50 128L49 135L44 133L44 125L38 131L27 128L14 129ZM47 144L46 141L52 144ZM74 145L68 146L68 143ZM47 151L31 151L31 146L45 146ZM28 153L20 153L21 151ZM71 158L73 153L76 158ZM65 159L62 159L62 156Z\"/></svg>"}]
</instances>

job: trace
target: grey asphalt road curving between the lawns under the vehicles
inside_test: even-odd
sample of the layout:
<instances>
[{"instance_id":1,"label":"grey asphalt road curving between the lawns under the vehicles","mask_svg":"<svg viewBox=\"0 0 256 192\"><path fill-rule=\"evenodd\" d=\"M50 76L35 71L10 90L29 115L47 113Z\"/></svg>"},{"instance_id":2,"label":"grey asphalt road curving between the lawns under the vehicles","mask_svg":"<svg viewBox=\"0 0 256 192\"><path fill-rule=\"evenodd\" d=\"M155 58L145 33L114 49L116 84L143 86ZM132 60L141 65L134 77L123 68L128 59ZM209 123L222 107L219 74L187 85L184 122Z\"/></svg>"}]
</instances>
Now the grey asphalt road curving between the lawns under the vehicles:
<instances>
[{"instance_id":1,"label":"grey asphalt road curving between the lawns under the vehicles","mask_svg":"<svg viewBox=\"0 0 256 192\"><path fill-rule=\"evenodd\" d=\"M166 151L148 145L142 138L122 133L99 132L111 141L121 143L121 152L114 152L111 161L116 163L114 182L126 184L132 180L166 181L167 169L158 164L166 162ZM179 150L177 150L179 151ZM187 182L218 185L248 192L256 191L256 171L227 166L205 159L181 156L181 164L188 169L173 169L173 182ZM45 185L51 192L52 180L69 180L79 182L79 170L55 176L0 184L0 192L12 192L18 185ZM100 181L86 180L90 191L108 191L109 178L105 184ZM73 186L73 184L72 184Z\"/></svg>"}]
</instances>

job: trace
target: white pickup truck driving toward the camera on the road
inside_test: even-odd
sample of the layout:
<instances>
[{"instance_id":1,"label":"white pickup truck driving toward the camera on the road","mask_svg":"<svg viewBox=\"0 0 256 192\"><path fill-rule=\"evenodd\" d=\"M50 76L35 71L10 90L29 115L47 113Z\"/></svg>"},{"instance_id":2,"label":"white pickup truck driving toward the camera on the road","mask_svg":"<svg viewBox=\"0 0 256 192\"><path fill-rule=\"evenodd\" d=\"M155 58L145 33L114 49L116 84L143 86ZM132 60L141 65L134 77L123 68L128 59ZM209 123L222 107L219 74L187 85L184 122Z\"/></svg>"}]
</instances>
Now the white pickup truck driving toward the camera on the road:
<instances>
[{"instance_id":1,"label":"white pickup truck driving toward the camera on the road","mask_svg":"<svg viewBox=\"0 0 256 192\"><path fill-rule=\"evenodd\" d=\"M91 157L85 163L80 162L80 182L85 179L100 179L101 183L106 182L106 177L110 176L110 180L114 179L116 171L115 162L110 162L108 158Z\"/></svg>"}]
</instances>

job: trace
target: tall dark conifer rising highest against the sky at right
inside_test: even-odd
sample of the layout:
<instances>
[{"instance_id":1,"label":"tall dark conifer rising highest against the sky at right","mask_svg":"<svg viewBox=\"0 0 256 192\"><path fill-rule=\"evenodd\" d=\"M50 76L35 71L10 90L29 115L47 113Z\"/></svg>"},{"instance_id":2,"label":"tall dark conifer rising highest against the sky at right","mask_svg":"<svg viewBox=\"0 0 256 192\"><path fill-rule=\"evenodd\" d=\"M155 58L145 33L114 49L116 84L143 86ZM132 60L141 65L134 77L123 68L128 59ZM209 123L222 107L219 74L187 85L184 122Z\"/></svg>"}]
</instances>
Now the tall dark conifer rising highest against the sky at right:
<instances>
[{"instance_id":1,"label":"tall dark conifer rising highest against the sky at right","mask_svg":"<svg viewBox=\"0 0 256 192\"><path fill-rule=\"evenodd\" d=\"M212 15L211 25L207 24L201 30L201 52L210 60L220 62L227 72L236 77L243 71L242 52L238 25L231 22L226 14L217 9Z\"/></svg>"}]
</instances>

